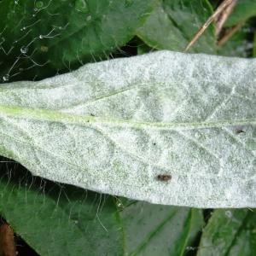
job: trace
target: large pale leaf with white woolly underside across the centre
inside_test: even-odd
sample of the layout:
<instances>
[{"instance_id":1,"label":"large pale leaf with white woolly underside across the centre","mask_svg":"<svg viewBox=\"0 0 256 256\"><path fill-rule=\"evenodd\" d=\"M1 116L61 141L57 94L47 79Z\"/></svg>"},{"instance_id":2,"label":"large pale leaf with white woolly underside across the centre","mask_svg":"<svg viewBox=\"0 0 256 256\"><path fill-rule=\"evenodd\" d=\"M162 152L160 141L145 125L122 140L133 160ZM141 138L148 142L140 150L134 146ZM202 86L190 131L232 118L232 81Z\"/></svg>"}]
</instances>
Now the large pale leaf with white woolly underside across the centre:
<instances>
[{"instance_id":1,"label":"large pale leaf with white woolly underside across the centre","mask_svg":"<svg viewBox=\"0 0 256 256\"><path fill-rule=\"evenodd\" d=\"M0 154L33 175L111 195L253 207L255 67L160 51L2 84Z\"/></svg>"}]
</instances>

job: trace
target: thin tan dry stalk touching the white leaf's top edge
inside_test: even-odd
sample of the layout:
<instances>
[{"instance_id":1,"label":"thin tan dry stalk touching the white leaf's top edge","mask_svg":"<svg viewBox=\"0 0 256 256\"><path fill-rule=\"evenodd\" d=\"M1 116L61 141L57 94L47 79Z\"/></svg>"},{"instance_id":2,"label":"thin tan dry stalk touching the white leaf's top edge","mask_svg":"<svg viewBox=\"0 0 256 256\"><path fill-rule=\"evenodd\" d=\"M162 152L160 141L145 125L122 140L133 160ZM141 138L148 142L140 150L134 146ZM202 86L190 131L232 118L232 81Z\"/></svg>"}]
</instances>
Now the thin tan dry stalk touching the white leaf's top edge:
<instances>
[{"instance_id":1,"label":"thin tan dry stalk touching the white leaf's top edge","mask_svg":"<svg viewBox=\"0 0 256 256\"><path fill-rule=\"evenodd\" d=\"M198 30L198 32L195 33L195 36L192 38L192 40L187 45L185 51L187 51L195 42L198 40L198 38L201 37L201 34L205 32L208 26L212 23L212 21L216 20L218 16L224 11L224 9L227 8L227 6L230 6L231 3L236 2L236 0L224 0L223 3L221 3L218 8L215 10L215 12L208 18L206 23L201 26L201 28Z\"/></svg>"}]
</instances>

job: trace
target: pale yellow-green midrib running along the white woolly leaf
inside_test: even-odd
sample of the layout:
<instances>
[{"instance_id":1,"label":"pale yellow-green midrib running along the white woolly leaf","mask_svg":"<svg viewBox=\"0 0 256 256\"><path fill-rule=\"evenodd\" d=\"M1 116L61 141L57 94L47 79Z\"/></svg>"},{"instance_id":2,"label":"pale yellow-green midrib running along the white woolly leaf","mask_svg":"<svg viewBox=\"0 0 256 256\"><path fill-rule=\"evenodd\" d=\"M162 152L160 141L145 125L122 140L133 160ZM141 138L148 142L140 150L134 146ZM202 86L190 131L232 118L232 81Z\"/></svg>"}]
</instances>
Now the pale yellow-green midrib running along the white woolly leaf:
<instances>
[{"instance_id":1,"label":"pale yellow-green midrib running along the white woolly leaf","mask_svg":"<svg viewBox=\"0 0 256 256\"><path fill-rule=\"evenodd\" d=\"M221 119L218 121L197 122L149 122L134 119L117 119L112 117L81 116L78 114L61 113L58 111L39 108L20 108L0 105L1 117L15 119L33 119L45 122L60 122L64 124L83 125L119 125L134 128L154 128L169 130L193 130L203 128L221 128L224 126L256 125L256 118L246 119Z\"/></svg>"}]
</instances>

